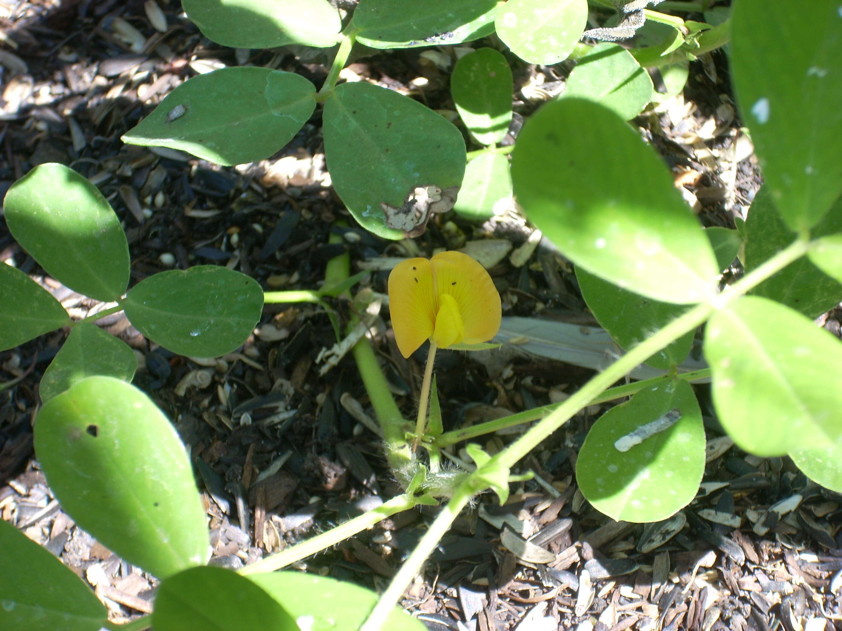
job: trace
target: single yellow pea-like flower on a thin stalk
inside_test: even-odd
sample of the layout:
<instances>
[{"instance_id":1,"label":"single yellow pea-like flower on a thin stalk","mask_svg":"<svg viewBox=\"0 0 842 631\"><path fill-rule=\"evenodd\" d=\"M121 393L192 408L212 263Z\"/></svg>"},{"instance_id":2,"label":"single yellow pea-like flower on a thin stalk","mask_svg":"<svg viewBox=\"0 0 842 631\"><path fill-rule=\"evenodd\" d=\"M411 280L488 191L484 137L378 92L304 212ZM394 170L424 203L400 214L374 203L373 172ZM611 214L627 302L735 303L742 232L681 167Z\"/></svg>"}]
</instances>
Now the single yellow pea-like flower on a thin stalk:
<instances>
[{"instance_id":1,"label":"single yellow pea-like flower on a thin stalk","mask_svg":"<svg viewBox=\"0 0 842 631\"><path fill-rule=\"evenodd\" d=\"M502 315L488 272L461 252L399 262L389 274L389 311L405 358L427 339L439 348L488 342Z\"/></svg>"}]
</instances>

